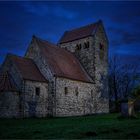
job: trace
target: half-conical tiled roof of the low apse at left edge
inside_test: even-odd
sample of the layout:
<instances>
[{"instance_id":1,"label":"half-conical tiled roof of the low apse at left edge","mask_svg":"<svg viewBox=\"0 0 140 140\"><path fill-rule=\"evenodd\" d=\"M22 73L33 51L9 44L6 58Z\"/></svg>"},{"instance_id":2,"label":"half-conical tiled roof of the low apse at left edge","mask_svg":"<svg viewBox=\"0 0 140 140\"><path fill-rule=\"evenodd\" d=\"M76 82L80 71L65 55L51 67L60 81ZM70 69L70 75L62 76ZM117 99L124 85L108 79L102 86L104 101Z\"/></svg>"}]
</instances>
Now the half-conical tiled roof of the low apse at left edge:
<instances>
[{"instance_id":1,"label":"half-conical tiled roof of the low apse at left edge","mask_svg":"<svg viewBox=\"0 0 140 140\"><path fill-rule=\"evenodd\" d=\"M8 72L0 74L0 91L18 91L15 82Z\"/></svg>"}]
</instances>

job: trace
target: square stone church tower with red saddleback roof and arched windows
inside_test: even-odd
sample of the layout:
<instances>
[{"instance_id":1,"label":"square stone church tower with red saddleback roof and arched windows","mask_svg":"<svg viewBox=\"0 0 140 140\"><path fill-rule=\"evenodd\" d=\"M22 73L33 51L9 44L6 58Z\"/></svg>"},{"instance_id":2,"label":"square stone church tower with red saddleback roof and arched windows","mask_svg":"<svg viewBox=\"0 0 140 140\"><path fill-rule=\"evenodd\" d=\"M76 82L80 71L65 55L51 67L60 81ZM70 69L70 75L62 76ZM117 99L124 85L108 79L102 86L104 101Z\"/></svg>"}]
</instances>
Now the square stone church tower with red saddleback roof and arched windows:
<instances>
[{"instance_id":1,"label":"square stone church tower with red saddleback roof and arched windows","mask_svg":"<svg viewBox=\"0 0 140 140\"><path fill-rule=\"evenodd\" d=\"M58 45L76 55L92 79L98 97L108 97L108 39L101 20L66 31Z\"/></svg>"}]
</instances>

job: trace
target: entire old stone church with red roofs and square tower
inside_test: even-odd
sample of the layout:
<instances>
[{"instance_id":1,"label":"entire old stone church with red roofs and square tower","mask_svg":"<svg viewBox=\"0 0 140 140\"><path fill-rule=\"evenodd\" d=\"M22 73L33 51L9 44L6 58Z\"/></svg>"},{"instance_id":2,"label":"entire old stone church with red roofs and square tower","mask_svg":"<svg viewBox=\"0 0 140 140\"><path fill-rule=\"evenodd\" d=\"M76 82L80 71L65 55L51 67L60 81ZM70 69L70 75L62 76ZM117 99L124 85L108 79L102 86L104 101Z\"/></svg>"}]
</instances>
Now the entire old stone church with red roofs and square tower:
<instances>
[{"instance_id":1,"label":"entire old stone church with red roofs and square tower","mask_svg":"<svg viewBox=\"0 0 140 140\"><path fill-rule=\"evenodd\" d=\"M24 57L7 54L0 117L109 112L108 39L102 21L66 31L55 45L32 37Z\"/></svg>"}]
</instances>

